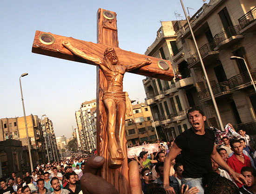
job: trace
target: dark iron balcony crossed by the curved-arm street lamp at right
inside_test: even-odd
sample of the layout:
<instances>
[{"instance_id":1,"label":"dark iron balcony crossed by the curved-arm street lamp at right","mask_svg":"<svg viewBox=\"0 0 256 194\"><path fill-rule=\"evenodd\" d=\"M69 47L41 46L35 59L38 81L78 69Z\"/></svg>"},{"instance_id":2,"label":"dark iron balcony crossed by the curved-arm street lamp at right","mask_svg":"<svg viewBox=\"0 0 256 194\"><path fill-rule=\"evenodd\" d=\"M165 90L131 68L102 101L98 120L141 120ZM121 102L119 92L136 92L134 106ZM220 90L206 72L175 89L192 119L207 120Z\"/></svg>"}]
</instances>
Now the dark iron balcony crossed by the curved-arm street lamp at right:
<instances>
[{"instance_id":1,"label":"dark iron balcony crossed by the curved-arm street lamp at right","mask_svg":"<svg viewBox=\"0 0 256 194\"><path fill-rule=\"evenodd\" d=\"M256 70L251 71L250 73L253 80L256 80ZM247 71L229 78L228 82L230 90L240 90L252 84L249 73Z\"/></svg>"}]
</instances>

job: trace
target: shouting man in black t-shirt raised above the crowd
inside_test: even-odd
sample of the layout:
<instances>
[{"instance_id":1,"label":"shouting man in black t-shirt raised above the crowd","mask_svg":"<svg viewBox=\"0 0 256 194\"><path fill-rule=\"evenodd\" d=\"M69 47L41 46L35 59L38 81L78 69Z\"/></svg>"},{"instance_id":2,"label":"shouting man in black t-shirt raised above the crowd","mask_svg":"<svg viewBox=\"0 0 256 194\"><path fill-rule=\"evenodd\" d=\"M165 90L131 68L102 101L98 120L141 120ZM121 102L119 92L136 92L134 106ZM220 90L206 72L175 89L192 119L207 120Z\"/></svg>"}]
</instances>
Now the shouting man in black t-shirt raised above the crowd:
<instances>
[{"instance_id":1,"label":"shouting man in black t-shirt raised above the crowd","mask_svg":"<svg viewBox=\"0 0 256 194\"><path fill-rule=\"evenodd\" d=\"M225 168L238 182L243 180L243 175L236 173L230 168L222 157L217 153L214 146L215 135L210 129L204 128L206 116L199 108L192 108L188 111L187 117L192 128L184 131L176 137L165 162L164 162L164 183L163 186L168 194L175 194L174 189L169 186L170 163L181 152L183 159L182 184L189 185L189 188L197 187L198 194L203 194L202 176L212 172L211 158L222 168ZM242 182L241 182L242 183Z\"/></svg>"}]
</instances>

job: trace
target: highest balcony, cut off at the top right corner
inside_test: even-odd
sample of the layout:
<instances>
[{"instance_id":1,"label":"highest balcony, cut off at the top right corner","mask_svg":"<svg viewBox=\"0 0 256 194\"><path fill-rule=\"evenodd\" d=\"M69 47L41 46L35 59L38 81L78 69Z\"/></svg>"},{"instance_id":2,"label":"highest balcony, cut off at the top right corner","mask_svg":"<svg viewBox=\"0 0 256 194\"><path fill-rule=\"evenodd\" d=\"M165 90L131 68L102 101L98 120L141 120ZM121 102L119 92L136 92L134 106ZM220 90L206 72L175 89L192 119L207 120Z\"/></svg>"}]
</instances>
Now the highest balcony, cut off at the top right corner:
<instances>
[{"instance_id":1,"label":"highest balcony, cut off at the top right corner","mask_svg":"<svg viewBox=\"0 0 256 194\"><path fill-rule=\"evenodd\" d=\"M256 30L256 6L238 19L241 33L254 32Z\"/></svg>"}]
</instances>

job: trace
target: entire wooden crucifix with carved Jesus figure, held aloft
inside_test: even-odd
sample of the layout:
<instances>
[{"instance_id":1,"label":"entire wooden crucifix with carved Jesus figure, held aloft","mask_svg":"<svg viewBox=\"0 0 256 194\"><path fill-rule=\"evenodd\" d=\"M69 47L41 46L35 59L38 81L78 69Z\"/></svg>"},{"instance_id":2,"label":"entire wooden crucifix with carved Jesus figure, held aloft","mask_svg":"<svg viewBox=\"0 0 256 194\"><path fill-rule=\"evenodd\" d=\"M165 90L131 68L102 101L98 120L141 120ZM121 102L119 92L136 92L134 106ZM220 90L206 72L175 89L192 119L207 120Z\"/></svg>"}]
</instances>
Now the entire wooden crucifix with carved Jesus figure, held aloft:
<instances>
[{"instance_id":1,"label":"entire wooden crucifix with carved Jesus figure, held aloft","mask_svg":"<svg viewBox=\"0 0 256 194\"><path fill-rule=\"evenodd\" d=\"M129 194L125 113L132 113L127 92L122 91L125 72L170 81L169 61L121 50L116 13L99 8L97 44L36 31L32 52L97 65L97 154L106 159L101 177L120 194Z\"/></svg>"}]
</instances>

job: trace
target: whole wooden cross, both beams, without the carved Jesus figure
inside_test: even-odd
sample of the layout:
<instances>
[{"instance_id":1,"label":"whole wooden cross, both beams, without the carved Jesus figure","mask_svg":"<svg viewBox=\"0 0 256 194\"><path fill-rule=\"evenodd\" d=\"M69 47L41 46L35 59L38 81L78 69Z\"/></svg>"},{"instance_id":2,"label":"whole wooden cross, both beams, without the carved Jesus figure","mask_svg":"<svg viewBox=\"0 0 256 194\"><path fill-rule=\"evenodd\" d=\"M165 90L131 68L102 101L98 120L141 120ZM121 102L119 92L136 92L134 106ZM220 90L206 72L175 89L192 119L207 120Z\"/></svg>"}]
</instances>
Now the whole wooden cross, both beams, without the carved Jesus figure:
<instances>
[{"instance_id":1,"label":"whole wooden cross, both beams, without the carved Jesus figure","mask_svg":"<svg viewBox=\"0 0 256 194\"><path fill-rule=\"evenodd\" d=\"M96 65L91 60L74 55L74 53L63 46L63 43L71 43L76 49L86 53L87 56L98 59L104 58L103 53L107 48L115 48L116 56L118 56L121 64L135 64L140 63L145 58L151 59L152 63L150 65L145 65L129 72L168 81L174 77L169 61L124 51L119 48L115 12L99 8L97 21L97 44L55 35L50 32L36 31L32 52ZM110 168L108 165L108 162L111 160L109 155L109 146L111 145L108 145L107 135L108 114L102 99L104 91L107 91L107 80L101 68L97 66L97 154L106 159L101 169L101 177L113 184L120 194L129 194L128 158L126 149L123 150L123 165L114 168L113 166ZM123 148L126 148L127 140L125 137L123 142L120 143L122 143Z\"/></svg>"}]
</instances>

